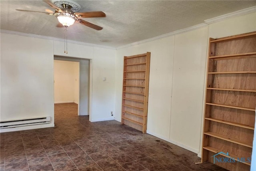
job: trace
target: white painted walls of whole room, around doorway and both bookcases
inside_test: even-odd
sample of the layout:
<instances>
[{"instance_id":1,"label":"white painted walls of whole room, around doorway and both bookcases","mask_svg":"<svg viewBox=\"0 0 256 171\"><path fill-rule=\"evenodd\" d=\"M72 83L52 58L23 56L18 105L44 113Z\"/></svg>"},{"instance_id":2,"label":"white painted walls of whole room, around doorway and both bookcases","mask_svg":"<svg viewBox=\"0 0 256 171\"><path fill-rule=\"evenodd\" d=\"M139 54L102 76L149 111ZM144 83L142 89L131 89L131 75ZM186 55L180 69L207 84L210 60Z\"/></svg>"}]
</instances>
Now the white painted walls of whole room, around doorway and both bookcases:
<instances>
[{"instance_id":1,"label":"white painted walls of whole room, around doorway and both bookcases","mask_svg":"<svg viewBox=\"0 0 256 171\"><path fill-rule=\"evenodd\" d=\"M0 121L53 117L54 55L92 59L90 120L113 119L113 111L120 121L123 56L151 52L148 133L198 153L202 140L206 41L209 37L255 30L254 12L117 51L68 43L68 54L64 54L64 43L58 40L1 33ZM255 145L253 155L256 156Z\"/></svg>"}]
</instances>

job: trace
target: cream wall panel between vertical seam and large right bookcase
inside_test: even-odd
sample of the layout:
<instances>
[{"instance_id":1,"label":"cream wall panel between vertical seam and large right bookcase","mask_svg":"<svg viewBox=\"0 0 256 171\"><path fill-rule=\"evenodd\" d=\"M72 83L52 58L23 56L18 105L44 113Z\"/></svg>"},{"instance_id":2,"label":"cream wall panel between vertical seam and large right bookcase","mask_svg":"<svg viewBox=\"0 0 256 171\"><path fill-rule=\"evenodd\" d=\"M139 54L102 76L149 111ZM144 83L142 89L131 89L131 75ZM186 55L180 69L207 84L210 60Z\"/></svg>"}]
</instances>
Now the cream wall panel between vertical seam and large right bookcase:
<instances>
[{"instance_id":1,"label":"cream wall panel between vertical seam and large right bookcase","mask_svg":"<svg viewBox=\"0 0 256 171\"><path fill-rule=\"evenodd\" d=\"M200 149L208 27L175 36L170 139Z\"/></svg>"}]
</instances>

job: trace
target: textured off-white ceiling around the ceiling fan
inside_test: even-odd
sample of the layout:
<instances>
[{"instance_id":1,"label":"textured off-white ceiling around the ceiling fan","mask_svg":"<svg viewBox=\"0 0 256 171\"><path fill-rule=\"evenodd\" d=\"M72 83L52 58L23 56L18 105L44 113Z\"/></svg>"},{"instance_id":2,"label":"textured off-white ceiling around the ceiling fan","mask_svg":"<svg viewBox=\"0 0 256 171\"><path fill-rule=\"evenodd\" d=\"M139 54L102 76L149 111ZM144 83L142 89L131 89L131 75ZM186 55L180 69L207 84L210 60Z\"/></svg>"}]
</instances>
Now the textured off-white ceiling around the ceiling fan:
<instances>
[{"instance_id":1,"label":"textured off-white ceiling around the ceiling fan","mask_svg":"<svg viewBox=\"0 0 256 171\"><path fill-rule=\"evenodd\" d=\"M75 23L68 28L68 40L118 47L204 23L204 20L256 5L256 1L169 1L169 0L74 0L80 12L103 11L106 18L82 18L103 27L97 31ZM54 11L41 0L0 0L0 29L64 37L57 18L36 12ZM110 40L111 42L101 42Z\"/></svg>"}]
</instances>

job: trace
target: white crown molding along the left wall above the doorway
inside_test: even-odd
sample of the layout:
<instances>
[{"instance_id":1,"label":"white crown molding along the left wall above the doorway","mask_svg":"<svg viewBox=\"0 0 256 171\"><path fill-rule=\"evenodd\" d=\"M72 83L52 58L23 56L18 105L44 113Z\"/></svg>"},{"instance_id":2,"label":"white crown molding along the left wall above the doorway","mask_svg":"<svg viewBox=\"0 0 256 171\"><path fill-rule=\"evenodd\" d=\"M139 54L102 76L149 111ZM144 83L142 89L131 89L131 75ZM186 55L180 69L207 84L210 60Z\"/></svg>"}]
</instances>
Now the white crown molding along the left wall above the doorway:
<instances>
[{"instance_id":1,"label":"white crown molding along the left wall above the doorway","mask_svg":"<svg viewBox=\"0 0 256 171\"><path fill-rule=\"evenodd\" d=\"M55 41L62 41L62 42L64 41L64 39L53 38L53 37L48 37L48 36L40 36L40 35L30 34L30 33L15 32L15 31L10 31L10 30L2 30L1 29L0 33L15 34L15 35L18 35L18 36L26 36L26 37L32 37L32 38L41 38L41 39L55 40ZM89 43L84 43L84 42L76 42L76 41L73 41L73 40L68 40L68 43L116 50L116 48L113 48L113 47L110 47L110 46L103 46L103 45L97 45L97 44L89 44Z\"/></svg>"}]
</instances>

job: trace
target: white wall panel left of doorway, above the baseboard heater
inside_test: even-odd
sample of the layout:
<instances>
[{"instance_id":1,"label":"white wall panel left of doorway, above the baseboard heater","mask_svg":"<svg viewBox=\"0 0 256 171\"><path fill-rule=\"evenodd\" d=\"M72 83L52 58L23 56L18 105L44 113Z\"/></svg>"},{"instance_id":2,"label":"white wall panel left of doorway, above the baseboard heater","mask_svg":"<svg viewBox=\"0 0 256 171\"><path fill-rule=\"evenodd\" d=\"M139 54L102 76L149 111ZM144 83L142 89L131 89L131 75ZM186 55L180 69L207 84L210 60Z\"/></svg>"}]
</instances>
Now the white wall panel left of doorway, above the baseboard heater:
<instances>
[{"instance_id":1,"label":"white wall panel left of doorway, above the baseboard heater","mask_svg":"<svg viewBox=\"0 0 256 171\"><path fill-rule=\"evenodd\" d=\"M52 52L51 40L1 34L0 121L50 116L54 126Z\"/></svg>"}]
</instances>

